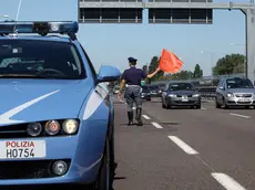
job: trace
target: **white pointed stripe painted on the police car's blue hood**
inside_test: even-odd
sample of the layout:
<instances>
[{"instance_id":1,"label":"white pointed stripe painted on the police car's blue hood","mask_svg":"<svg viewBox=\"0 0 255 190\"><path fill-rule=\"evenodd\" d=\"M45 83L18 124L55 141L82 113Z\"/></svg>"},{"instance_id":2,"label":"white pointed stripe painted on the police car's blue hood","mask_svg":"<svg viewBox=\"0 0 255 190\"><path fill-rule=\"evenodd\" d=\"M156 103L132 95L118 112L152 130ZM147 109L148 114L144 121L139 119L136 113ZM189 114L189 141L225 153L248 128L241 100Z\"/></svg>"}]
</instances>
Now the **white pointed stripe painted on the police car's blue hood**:
<instances>
[{"instance_id":1,"label":"white pointed stripe painted on the police car's blue hood","mask_svg":"<svg viewBox=\"0 0 255 190\"><path fill-rule=\"evenodd\" d=\"M24 120L13 120L13 119L10 119L10 118L12 116L14 116L16 114L22 112L23 109L30 107L31 105L38 103L39 101L42 101L42 99L47 98L48 96L58 93L60 89L51 92L51 93L48 93L48 94L44 94L44 95L42 95L40 97L37 97L37 98L32 99L32 101L29 101L29 102L27 102L24 104L21 104L18 107L14 107L14 108L3 113L2 115L0 115L0 124L14 124L14 123L24 122Z\"/></svg>"}]
</instances>

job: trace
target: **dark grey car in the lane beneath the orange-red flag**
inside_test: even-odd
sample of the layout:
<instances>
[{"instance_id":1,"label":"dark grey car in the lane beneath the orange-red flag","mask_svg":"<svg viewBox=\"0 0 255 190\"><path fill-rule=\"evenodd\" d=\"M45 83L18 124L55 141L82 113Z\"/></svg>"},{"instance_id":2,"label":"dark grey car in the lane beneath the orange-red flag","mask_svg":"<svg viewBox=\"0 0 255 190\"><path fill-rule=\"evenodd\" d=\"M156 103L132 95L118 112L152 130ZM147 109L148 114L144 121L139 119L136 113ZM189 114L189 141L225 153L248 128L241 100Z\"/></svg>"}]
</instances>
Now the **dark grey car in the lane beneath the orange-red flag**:
<instances>
[{"instance_id":1,"label":"dark grey car in the lane beneath the orange-red flag","mask_svg":"<svg viewBox=\"0 0 255 190\"><path fill-rule=\"evenodd\" d=\"M162 107L190 106L201 108L201 95L188 82L173 82L162 93Z\"/></svg>"}]
</instances>

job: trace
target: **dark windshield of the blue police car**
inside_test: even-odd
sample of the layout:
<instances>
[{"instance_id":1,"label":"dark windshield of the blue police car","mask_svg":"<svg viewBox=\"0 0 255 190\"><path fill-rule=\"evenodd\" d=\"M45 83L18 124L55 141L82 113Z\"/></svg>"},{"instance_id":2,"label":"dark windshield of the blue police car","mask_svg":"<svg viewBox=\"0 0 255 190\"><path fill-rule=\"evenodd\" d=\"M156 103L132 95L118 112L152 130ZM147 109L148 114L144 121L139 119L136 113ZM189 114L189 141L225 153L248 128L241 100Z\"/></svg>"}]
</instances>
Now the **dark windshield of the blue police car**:
<instances>
[{"instance_id":1,"label":"dark windshield of the blue police car","mask_svg":"<svg viewBox=\"0 0 255 190\"><path fill-rule=\"evenodd\" d=\"M16 39L0 40L0 77L78 80L85 72L70 43Z\"/></svg>"}]
</instances>

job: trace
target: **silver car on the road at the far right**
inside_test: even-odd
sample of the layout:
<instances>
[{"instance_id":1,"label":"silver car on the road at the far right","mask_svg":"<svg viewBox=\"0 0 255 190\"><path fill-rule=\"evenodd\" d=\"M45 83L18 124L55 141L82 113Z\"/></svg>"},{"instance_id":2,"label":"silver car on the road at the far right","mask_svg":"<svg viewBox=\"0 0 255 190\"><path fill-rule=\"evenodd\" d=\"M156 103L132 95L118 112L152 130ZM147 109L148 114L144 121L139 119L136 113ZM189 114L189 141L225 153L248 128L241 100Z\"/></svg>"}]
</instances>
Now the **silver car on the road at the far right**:
<instances>
[{"instance_id":1,"label":"silver car on the road at the far right","mask_svg":"<svg viewBox=\"0 0 255 190\"><path fill-rule=\"evenodd\" d=\"M231 77L218 82L215 96L216 108L230 106L255 106L255 88L248 78ZM255 108L255 107L254 107Z\"/></svg>"}]
</instances>

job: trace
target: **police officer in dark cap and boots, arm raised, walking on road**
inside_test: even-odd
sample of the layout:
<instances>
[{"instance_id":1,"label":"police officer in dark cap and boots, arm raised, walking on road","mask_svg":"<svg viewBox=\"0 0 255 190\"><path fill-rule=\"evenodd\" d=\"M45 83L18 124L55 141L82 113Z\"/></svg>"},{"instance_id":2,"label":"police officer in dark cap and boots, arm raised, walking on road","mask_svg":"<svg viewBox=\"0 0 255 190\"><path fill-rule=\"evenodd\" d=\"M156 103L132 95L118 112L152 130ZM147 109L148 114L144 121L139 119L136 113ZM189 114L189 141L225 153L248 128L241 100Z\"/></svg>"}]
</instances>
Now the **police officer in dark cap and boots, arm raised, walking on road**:
<instances>
[{"instance_id":1,"label":"police officer in dark cap and boots, arm raised, walking on road","mask_svg":"<svg viewBox=\"0 0 255 190\"><path fill-rule=\"evenodd\" d=\"M141 81L143 78L152 78L161 68L157 67L156 71L154 71L151 74L146 74L143 70L136 68L136 59L129 57L129 64L130 68L125 70L122 74L121 84L120 84L120 91L119 91L119 98L122 95L122 88L124 84L128 85L124 98L126 99L128 104L128 117L129 117L129 125L133 125L133 103L136 105L136 120L137 125L142 126L142 97L141 97Z\"/></svg>"}]
</instances>

